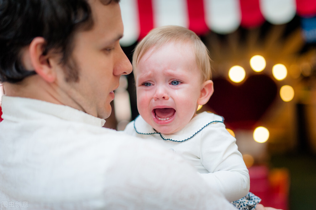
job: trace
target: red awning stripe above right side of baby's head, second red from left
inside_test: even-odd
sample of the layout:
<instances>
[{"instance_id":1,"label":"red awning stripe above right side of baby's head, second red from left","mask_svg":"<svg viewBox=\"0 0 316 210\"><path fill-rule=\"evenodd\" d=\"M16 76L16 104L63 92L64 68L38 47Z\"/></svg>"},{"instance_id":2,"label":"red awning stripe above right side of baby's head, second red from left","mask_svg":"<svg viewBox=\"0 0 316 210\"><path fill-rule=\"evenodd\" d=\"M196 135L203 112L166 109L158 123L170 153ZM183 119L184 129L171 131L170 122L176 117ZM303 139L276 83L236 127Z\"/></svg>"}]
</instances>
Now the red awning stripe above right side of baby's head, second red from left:
<instances>
[{"instance_id":1,"label":"red awning stripe above right side of baby's head, second red from left","mask_svg":"<svg viewBox=\"0 0 316 210\"><path fill-rule=\"evenodd\" d=\"M209 31L204 19L203 0L187 0L189 29L197 35L203 35Z\"/></svg>"}]
</instances>

